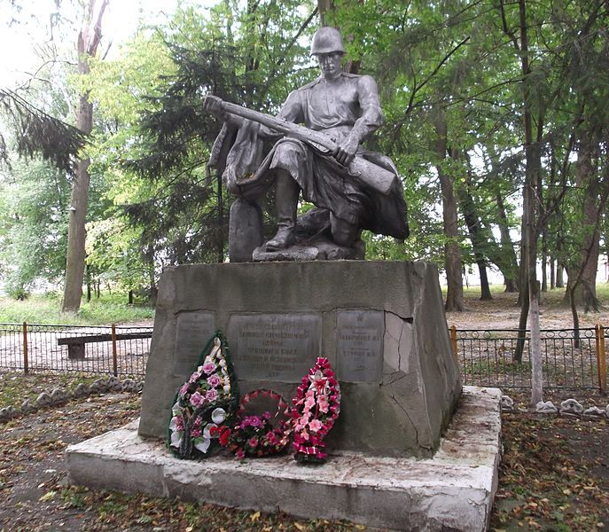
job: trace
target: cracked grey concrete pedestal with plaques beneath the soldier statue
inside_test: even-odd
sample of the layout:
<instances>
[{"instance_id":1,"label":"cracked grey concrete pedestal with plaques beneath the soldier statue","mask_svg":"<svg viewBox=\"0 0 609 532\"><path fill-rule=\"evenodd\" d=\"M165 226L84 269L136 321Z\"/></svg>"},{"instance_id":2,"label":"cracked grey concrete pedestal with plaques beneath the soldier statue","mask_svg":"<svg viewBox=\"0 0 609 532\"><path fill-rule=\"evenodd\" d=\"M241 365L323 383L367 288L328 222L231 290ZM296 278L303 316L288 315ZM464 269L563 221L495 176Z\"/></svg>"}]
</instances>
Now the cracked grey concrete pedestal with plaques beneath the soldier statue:
<instances>
[{"instance_id":1,"label":"cracked grey concrete pedestal with plaques beneath the soldier statue","mask_svg":"<svg viewBox=\"0 0 609 532\"><path fill-rule=\"evenodd\" d=\"M318 356L340 381L328 450L429 458L461 392L438 272L425 262L191 264L160 279L139 434L169 409L216 329L242 394L288 401Z\"/></svg>"}]
</instances>

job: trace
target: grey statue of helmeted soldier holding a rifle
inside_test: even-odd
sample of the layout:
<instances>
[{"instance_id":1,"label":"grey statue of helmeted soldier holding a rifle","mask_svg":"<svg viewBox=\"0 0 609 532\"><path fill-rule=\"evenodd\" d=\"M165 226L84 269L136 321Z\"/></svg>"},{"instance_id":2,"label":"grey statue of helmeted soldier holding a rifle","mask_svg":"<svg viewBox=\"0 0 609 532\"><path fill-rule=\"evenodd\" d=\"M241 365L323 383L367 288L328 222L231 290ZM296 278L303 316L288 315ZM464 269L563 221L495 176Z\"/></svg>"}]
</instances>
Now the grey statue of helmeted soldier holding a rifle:
<instances>
[{"instance_id":1,"label":"grey statue of helmeted soldier holding a rifle","mask_svg":"<svg viewBox=\"0 0 609 532\"><path fill-rule=\"evenodd\" d=\"M277 234L259 248L263 252L310 245L325 233L321 238L326 239L326 246L329 240L344 251L326 258L363 258L363 253L348 251L359 249L363 229L396 239L409 235L402 181L394 163L362 148L363 141L382 123L377 84L369 75L342 72L344 54L337 29L317 30L311 56L316 57L321 75L288 96L277 120L247 120L251 114L266 115L244 114L239 109L246 109L223 106L217 98L206 99L207 109L225 121L210 165L223 168L229 191L254 202L275 184ZM290 128L281 127L282 122L302 124L307 129L299 128L297 132L304 134L291 135ZM320 134L329 142L316 142ZM262 139L276 140L265 156L261 153ZM367 163L363 175L355 176L354 159ZM375 173L384 176L380 188L371 185L376 176L367 175ZM300 194L317 207L302 223L297 222ZM307 226L308 234L299 235L300 225Z\"/></svg>"}]
</instances>

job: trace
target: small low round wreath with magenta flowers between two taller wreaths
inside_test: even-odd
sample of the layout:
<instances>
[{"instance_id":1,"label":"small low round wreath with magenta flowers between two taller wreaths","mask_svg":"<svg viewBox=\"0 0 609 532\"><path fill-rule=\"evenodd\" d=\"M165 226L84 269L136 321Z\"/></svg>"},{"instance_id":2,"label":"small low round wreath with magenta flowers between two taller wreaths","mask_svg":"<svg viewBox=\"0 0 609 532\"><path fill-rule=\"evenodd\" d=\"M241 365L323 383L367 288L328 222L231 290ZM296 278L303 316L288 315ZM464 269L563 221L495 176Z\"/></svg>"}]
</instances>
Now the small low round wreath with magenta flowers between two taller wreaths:
<instances>
[{"instance_id":1,"label":"small low round wreath with magenta flowers between two taller wreaths","mask_svg":"<svg viewBox=\"0 0 609 532\"><path fill-rule=\"evenodd\" d=\"M271 416L269 411L262 415L246 416L246 406L258 397L266 397L277 402L277 411ZM279 419L280 416L285 419ZM267 457L285 451L290 442L292 426L289 420L289 407L285 399L267 389L257 389L246 394L239 405L237 421L232 430L228 426L214 429L219 442L237 458ZM271 422L275 420L275 424Z\"/></svg>"}]
</instances>

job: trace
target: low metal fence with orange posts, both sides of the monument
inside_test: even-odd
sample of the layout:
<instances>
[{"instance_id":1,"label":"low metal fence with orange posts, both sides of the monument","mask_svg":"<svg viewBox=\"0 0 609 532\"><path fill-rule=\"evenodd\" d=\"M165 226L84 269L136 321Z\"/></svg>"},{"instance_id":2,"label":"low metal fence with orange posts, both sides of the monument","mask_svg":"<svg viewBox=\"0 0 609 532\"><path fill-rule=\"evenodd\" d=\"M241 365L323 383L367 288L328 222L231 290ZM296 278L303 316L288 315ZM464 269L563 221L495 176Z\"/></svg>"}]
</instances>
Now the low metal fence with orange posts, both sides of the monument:
<instances>
[{"instance_id":1,"label":"low metal fence with orange posts, both sides of the monument","mask_svg":"<svg viewBox=\"0 0 609 532\"><path fill-rule=\"evenodd\" d=\"M450 339L463 383L529 388L529 336L522 361L514 361L519 331L457 330ZM543 386L600 388L606 392L605 329L547 329L541 332ZM86 372L144 376L152 327L0 324L0 370Z\"/></svg>"}]
</instances>

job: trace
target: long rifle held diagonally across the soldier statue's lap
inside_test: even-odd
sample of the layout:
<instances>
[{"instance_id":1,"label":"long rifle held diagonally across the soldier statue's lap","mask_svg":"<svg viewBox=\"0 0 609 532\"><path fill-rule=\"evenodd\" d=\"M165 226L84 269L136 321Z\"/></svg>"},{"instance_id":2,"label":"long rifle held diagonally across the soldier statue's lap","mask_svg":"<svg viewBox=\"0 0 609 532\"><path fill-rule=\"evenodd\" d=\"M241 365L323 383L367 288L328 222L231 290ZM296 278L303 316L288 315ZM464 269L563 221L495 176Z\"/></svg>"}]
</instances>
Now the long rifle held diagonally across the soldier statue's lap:
<instances>
[{"instance_id":1,"label":"long rifle held diagonally across the soldier statue's lap","mask_svg":"<svg viewBox=\"0 0 609 532\"><path fill-rule=\"evenodd\" d=\"M219 109L226 113L236 114L247 120L258 122L269 129L274 129L279 133L283 133L286 137L296 138L308 145L322 146L326 150L329 150L330 153L334 153L338 149L336 141L320 131L314 131L313 129L299 126L293 122L285 121L282 118L276 118L269 114L259 113L258 111L247 109L246 107L230 104L217 96L207 96L205 98L204 106L210 108L214 103ZM378 164L374 164L370 160L366 160L359 155L355 155L353 160L349 162L347 171L350 176L355 177L363 184L370 186L384 195L389 194L395 179L395 174L393 172L381 168Z\"/></svg>"}]
</instances>

